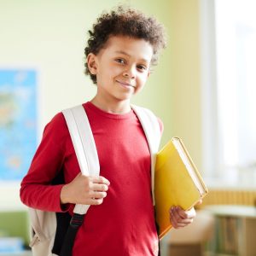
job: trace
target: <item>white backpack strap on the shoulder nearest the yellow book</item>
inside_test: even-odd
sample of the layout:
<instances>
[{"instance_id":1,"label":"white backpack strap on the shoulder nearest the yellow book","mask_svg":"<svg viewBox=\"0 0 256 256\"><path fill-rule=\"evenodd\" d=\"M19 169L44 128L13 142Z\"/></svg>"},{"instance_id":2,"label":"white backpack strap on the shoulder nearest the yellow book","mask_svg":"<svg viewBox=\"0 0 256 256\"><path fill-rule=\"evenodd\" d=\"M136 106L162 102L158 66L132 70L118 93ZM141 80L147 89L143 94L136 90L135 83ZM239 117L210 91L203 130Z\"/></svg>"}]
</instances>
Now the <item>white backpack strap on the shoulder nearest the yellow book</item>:
<instances>
[{"instance_id":1,"label":"white backpack strap on the shoulder nearest the yellow book","mask_svg":"<svg viewBox=\"0 0 256 256\"><path fill-rule=\"evenodd\" d=\"M160 138L161 138L160 125L154 113L148 110L147 108L142 108L135 105L131 105L131 108L137 114L137 118L140 120L141 125L143 126L143 131L145 133L145 136L147 137L148 147L151 154L151 191L152 191L153 204L155 204L154 167L155 167L156 154L160 146Z\"/></svg>"}]
</instances>

